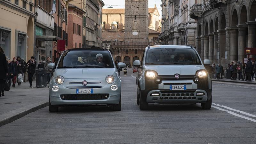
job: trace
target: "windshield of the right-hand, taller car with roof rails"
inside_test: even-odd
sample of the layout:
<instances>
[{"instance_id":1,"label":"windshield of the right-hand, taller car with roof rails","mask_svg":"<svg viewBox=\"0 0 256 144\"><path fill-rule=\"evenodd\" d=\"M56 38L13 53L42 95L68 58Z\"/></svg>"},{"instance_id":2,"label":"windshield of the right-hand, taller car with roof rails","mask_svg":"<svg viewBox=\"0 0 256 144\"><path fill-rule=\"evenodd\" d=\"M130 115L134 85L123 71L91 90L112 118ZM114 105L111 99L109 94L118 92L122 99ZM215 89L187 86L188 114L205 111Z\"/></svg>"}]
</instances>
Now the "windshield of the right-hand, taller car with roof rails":
<instances>
[{"instance_id":1,"label":"windshield of the right-hand, taller car with roof rails","mask_svg":"<svg viewBox=\"0 0 256 144\"><path fill-rule=\"evenodd\" d=\"M194 49L159 48L149 49L145 65L201 65Z\"/></svg>"}]
</instances>

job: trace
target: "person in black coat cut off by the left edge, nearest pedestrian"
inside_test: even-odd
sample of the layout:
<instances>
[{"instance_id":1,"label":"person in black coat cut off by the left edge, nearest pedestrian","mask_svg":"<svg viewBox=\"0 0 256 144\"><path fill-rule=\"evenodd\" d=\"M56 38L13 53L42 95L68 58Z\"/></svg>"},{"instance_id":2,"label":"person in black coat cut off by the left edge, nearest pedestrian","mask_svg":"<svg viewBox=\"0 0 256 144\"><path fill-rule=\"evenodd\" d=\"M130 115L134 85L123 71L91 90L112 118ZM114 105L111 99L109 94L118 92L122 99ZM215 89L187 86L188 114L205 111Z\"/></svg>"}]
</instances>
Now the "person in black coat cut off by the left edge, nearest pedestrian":
<instances>
[{"instance_id":1,"label":"person in black coat cut off by the left edge, nearest pedestrian","mask_svg":"<svg viewBox=\"0 0 256 144\"><path fill-rule=\"evenodd\" d=\"M4 90L6 76L8 76L7 62L4 50L0 47L0 97L2 95L2 91Z\"/></svg>"}]
</instances>

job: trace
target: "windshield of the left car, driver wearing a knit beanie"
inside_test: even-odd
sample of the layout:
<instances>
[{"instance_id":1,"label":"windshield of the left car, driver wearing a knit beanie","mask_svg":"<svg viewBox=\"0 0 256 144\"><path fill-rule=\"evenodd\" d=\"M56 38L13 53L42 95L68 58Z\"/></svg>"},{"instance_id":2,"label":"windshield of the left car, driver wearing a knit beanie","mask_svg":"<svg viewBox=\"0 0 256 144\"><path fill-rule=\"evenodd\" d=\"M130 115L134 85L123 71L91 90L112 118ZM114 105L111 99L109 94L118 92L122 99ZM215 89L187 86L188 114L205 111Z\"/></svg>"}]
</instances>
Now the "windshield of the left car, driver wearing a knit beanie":
<instances>
[{"instance_id":1,"label":"windshield of the left car, driver wearing a knit beanie","mask_svg":"<svg viewBox=\"0 0 256 144\"><path fill-rule=\"evenodd\" d=\"M77 50L63 52L57 68L114 68L108 51Z\"/></svg>"}]
</instances>

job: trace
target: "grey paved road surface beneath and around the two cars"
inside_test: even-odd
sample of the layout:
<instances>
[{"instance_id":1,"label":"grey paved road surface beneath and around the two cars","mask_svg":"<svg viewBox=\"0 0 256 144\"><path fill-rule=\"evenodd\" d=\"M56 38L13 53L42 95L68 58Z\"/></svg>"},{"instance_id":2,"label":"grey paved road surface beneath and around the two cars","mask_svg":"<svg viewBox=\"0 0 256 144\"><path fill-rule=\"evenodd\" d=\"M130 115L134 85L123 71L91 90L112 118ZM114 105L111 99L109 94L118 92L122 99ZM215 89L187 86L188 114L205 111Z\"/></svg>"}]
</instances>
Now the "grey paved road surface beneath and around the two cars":
<instances>
[{"instance_id":1,"label":"grey paved road surface beneath and around the two cars","mask_svg":"<svg viewBox=\"0 0 256 144\"><path fill-rule=\"evenodd\" d=\"M0 127L0 143L255 143L256 87L213 83L211 110L196 105L136 105L131 71L122 77L122 111L48 107Z\"/></svg>"}]
</instances>

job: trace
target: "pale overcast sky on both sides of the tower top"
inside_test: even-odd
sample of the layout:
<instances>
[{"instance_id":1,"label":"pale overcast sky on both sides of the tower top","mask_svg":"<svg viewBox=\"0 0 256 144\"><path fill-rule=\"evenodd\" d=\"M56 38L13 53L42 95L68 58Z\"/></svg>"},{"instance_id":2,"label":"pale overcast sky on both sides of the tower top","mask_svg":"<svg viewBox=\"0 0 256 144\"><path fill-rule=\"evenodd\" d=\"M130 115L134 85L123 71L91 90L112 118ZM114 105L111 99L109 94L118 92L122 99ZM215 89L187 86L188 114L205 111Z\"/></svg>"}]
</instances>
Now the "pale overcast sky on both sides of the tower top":
<instances>
[{"instance_id":1,"label":"pale overcast sky on both sides of the tower top","mask_svg":"<svg viewBox=\"0 0 256 144\"><path fill-rule=\"evenodd\" d=\"M111 7L116 9L124 8L124 0L103 0L103 2L105 4L105 6L103 7L104 9L108 8L109 5L112 5ZM160 6L160 4L162 4L161 0L148 0L148 7L154 7L155 4L161 17L162 16L162 8Z\"/></svg>"}]
</instances>

